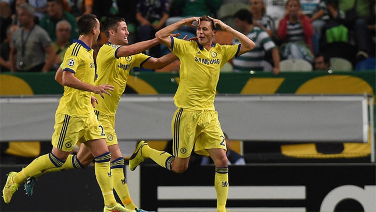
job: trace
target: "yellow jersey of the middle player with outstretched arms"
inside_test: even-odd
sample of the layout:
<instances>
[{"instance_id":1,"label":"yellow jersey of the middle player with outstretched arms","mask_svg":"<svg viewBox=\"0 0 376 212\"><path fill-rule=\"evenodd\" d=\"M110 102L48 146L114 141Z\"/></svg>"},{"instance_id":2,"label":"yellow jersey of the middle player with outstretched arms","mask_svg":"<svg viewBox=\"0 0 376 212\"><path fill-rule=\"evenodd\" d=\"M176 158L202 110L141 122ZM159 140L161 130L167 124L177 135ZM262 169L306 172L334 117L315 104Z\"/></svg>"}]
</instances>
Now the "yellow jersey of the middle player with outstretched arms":
<instances>
[{"instance_id":1,"label":"yellow jersey of the middle player with outstretched arms","mask_svg":"<svg viewBox=\"0 0 376 212\"><path fill-rule=\"evenodd\" d=\"M115 115L121 95L124 92L129 70L133 67L141 67L151 57L142 53L128 57L117 57L117 51L121 46L110 42L103 45L97 55L97 74L96 85L108 83L115 86L115 91L110 91L111 96L105 95L102 99L100 95L95 95L99 104L96 110L106 115Z\"/></svg>"}]
</instances>

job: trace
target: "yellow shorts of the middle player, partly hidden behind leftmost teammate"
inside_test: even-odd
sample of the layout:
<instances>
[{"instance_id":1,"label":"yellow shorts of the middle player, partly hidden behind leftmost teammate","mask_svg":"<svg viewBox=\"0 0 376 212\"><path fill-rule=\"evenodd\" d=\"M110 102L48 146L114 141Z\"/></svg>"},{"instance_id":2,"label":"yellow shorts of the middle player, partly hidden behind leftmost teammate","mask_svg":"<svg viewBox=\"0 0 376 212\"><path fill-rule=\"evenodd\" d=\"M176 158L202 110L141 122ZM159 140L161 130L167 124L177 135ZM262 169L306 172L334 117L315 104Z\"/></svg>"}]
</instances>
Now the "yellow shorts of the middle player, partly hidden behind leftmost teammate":
<instances>
[{"instance_id":1,"label":"yellow shorts of the middle player, partly hidden behind leftmost teammate","mask_svg":"<svg viewBox=\"0 0 376 212\"><path fill-rule=\"evenodd\" d=\"M115 116L114 115L106 115L97 110L94 110L95 114L97 115L98 120L102 123L103 128L105 128L106 133L106 144L107 146L111 146L118 143L117 135L115 132Z\"/></svg>"}]
</instances>

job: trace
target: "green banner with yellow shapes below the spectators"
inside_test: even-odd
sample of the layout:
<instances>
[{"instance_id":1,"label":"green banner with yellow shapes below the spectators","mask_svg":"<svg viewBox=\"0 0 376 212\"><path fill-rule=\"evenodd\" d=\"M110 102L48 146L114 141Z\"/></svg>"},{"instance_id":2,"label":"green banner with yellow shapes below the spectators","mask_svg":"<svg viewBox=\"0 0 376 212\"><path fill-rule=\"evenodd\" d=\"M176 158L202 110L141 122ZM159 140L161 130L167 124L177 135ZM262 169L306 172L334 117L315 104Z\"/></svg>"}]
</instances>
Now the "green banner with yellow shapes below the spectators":
<instances>
[{"instance_id":1,"label":"green banner with yellow shapes below the spectators","mask_svg":"<svg viewBox=\"0 0 376 212\"><path fill-rule=\"evenodd\" d=\"M0 94L62 94L55 73L1 74ZM219 94L370 94L374 95L376 72L284 72L221 73ZM126 93L174 94L179 84L178 73L133 73L127 80Z\"/></svg>"}]
</instances>

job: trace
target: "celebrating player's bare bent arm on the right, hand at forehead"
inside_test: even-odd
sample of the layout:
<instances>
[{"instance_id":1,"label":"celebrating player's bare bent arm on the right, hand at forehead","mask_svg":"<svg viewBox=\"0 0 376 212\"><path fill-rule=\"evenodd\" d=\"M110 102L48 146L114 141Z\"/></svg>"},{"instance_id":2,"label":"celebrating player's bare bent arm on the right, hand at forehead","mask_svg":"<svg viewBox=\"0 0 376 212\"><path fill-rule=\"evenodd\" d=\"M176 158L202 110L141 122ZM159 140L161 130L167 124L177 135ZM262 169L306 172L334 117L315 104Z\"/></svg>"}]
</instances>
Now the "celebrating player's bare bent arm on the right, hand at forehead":
<instances>
[{"instance_id":1,"label":"celebrating player's bare bent arm on the right, hand at forehead","mask_svg":"<svg viewBox=\"0 0 376 212\"><path fill-rule=\"evenodd\" d=\"M249 39L246 35L244 35L241 32L236 31L235 29L231 28L230 26L226 25L219 19L212 18L208 16L211 20L214 22L214 26L218 25L220 26L224 31L230 32L235 38L237 38L240 41L240 51L239 55L251 51L255 48L255 43L251 39Z\"/></svg>"}]
</instances>

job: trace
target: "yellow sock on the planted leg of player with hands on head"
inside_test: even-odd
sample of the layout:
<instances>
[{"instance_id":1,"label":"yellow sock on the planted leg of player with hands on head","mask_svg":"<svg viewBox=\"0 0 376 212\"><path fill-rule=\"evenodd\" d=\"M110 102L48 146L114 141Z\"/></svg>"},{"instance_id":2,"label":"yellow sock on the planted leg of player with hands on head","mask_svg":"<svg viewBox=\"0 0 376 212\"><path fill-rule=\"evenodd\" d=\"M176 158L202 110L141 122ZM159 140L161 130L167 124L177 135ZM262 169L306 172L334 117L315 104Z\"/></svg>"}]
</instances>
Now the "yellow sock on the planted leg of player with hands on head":
<instances>
[{"instance_id":1,"label":"yellow sock on the planted leg of player with hands on head","mask_svg":"<svg viewBox=\"0 0 376 212\"><path fill-rule=\"evenodd\" d=\"M217 212L226 212L227 194L229 193L228 173L228 167L215 167L214 187L217 192Z\"/></svg>"}]
</instances>

